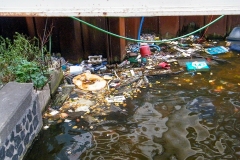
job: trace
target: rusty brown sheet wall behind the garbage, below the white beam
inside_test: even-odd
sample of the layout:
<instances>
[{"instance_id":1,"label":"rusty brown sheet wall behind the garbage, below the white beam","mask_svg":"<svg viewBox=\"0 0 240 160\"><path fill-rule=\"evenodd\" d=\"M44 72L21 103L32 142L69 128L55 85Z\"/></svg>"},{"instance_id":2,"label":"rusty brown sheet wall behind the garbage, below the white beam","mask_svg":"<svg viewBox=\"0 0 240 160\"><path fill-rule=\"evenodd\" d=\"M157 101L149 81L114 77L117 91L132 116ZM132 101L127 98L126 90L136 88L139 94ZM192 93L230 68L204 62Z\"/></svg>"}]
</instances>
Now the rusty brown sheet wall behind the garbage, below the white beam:
<instances>
[{"instance_id":1,"label":"rusty brown sheet wall behind the garbage, below the white beam","mask_svg":"<svg viewBox=\"0 0 240 160\"><path fill-rule=\"evenodd\" d=\"M161 16L145 17L142 33L156 34L160 38L174 38L190 33L208 24L219 16ZM81 17L104 30L121 36L137 39L141 17ZM88 59L89 55L103 55L109 62L124 58L128 41L110 36L69 17L1 17L0 35L12 38L15 32L28 36L43 36L44 29L53 24L52 52L61 53L71 62ZM240 16L224 16L222 19L199 32L206 38L225 38L240 25Z\"/></svg>"}]
</instances>

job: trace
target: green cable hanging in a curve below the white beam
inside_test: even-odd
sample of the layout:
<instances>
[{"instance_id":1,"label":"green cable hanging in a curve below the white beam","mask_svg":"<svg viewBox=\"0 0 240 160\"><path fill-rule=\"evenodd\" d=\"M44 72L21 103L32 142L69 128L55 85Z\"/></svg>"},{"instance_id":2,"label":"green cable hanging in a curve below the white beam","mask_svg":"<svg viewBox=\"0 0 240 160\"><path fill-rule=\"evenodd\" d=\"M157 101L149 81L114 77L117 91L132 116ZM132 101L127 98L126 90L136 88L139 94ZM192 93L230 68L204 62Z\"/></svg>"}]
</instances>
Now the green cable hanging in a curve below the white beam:
<instances>
[{"instance_id":1,"label":"green cable hanging in a curve below the white beam","mask_svg":"<svg viewBox=\"0 0 240 160\"><path fill-rule=\"evenodd\" d=\"M81 22L81 23L83 23L83 24L85 24L85 25L88 25L88 26L90 26L90 27L92 27L92 28L94 28L94 29L97 29L97 30L99 30L99 31L101 31L101 32L104 32L104 33L106 33L106 34L109 34L109 35L111 35L111 36L115 36L115 37L118 37L118 38L122 38L122 39L125 39L125 40L128 40L128 41L133 41L133 42L145 42L145 43L164 43L164 42L175 41L175 40L178 40L178 39L180 39L180 38L188 37L188 36L190 36L190 35L192 35L192 34L194 34L194 33L197 33L197 32L199 32L199 31L203 30L204 28L212 25L213 23L217 22L218 20L220 20L220 19L223 18L223 17L224 17L224 15L221 15L221 16L219 16L218 18L216 18L215 20L213 20L212 22L208 23L207 25L205 25L205 26L203 26L203 27L201 27L201 28L199 28L199 29L191 32L191 33L188 33L188 34L186 34L186 35L179 36L179 37L176 37L176 38L171 38L171 39L159 40L159 41L146 41L146 40L138 40L138 39L128 38L128 37L125 37L125 36L121 36L121 35L118 35L118 34L115 34L115 33L109 32L109 31L106 31L106 30L104 30L104 29L102 29L102 28L99 28L99 27L97 27L97 26L95 26L95 25L92 25L92 24L90 24L90 23L88 23L88 22L86 22L86 21L83 21L83 20L81 20L81 19L79 19L79 18L76 18L76 17L74 17L74 16L71 16L70 18L72 18L72 19L74 19L74 20L77 20L77 21L79 21L79 22Z\"/></svg>"}]
</instances>

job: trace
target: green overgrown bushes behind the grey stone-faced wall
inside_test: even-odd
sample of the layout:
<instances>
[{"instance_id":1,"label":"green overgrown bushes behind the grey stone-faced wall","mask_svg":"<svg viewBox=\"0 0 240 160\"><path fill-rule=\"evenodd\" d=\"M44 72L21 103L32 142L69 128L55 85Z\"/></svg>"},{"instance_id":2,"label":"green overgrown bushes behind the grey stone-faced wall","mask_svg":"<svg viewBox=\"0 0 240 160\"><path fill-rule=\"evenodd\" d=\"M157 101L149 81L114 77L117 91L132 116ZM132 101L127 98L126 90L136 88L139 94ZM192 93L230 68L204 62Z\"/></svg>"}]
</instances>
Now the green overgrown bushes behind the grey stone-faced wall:
<instances>
[{"instance_id":1,"label":"green overgrown bushes behind the grey stone-faced wall","mask_svg":"<svg viewBox=\"0 0 240 160\"><path fill-rule=\"evenodd\" d=\"M42 89L49 81L50 60L46 47L35 37L15 33L11 41L0 36L0 84L17 81Z\"/></svg>"}]
</instances>

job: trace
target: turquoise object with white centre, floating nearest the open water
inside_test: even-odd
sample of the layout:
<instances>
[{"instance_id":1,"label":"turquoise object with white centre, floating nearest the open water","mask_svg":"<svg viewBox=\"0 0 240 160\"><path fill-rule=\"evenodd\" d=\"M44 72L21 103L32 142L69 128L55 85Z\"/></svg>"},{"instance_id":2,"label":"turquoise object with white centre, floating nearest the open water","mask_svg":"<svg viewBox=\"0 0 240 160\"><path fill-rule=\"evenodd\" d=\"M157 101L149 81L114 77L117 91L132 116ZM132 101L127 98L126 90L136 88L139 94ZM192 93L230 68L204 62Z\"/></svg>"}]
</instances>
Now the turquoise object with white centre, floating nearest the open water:
<instances>
[{"instance_id":1,"label":"turquoise object with white centre, floating nearest the open water","mask_svg":"<svg viewBox=\"0 0 240 160\"><path fill-rule=\"evenodd\" d=\"M208 71L210 68L205 61L186 62L188 71Z\"/></svg>"}]
</instances>

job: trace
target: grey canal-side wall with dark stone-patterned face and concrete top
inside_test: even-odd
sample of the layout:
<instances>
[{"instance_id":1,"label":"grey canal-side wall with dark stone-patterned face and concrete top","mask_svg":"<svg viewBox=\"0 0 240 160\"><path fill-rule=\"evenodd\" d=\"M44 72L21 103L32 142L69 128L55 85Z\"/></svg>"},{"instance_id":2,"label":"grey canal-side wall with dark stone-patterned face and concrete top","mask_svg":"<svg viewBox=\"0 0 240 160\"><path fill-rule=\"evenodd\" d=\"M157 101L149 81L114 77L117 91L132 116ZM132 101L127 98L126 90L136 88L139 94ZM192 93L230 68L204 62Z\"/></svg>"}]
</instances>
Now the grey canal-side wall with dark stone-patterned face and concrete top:
<instances>
[{"instance_id":1,"label":"grey canal-side wall with dark stone-patterned face and concrete top","mask_svg":"<svg viewBox=\"0 0 240 160\"><path fill-rule=\"evenodd\" d=\"M0 90L0 117L0 160L22 159L42 128L42 112L33 85L6 84Z\"/></svg>"}]
</instances>

